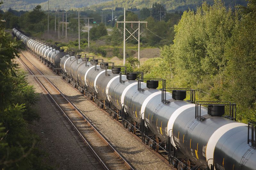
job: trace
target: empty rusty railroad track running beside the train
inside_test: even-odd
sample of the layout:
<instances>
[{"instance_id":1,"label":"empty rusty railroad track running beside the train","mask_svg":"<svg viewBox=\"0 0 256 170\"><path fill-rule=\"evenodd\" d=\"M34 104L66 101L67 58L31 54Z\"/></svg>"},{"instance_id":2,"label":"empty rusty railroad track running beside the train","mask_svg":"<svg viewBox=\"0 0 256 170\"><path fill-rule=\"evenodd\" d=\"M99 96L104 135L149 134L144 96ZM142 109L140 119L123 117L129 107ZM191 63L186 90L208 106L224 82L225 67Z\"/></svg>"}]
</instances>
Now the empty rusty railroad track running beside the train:
<instances>
[{"instance_id":1,"label":"empty rusty railroad track running beside the train","mask_svg":"<svg viewBox=\"0 0 256 170\"><path fill-rule=\"evenodd\" d=\"M21 53L20 61L58 107L68 123L91 151L88 155L96 169L133 169L86 117ZM100 164L99 164L100 163Z\"/></svg>"}]
</instances>

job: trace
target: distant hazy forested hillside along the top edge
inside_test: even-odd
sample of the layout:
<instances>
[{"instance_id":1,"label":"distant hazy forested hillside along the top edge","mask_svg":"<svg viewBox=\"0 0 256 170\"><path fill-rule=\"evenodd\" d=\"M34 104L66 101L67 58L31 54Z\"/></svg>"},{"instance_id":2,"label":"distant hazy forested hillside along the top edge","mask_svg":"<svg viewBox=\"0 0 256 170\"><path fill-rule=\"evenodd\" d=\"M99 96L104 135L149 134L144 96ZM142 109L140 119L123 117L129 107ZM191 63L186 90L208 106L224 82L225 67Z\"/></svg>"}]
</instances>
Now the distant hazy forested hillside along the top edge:
<instances>
[{"instance_id":1,"label":"distant hazy forested hillside along the top edge","mask_svg":"<svg viewBox=\"0 0 256 170\"><path fill-rule=\"evenodd\" d=\"M126 7L142 9L142 8L152 8L154 3L164 5L165 9L168 11L185 11L188 8L196 9L197 5L202 4L202 0L114 0L114 8L116 7ZM213 4L214 0L207 0L209 4ZM2 5L2 10L8 10L10 7L14 10L32 10L35 6L39 4L42 6L42 9L45 11L48 9L47 0L8 0L4 1ZM246 5L245 0L225 0L227 6L234 7L235 4ZM111 0L51 0L50 8L53 7L64 7L64 9L74 9L81 7L88 7L92 10L101 10L101 9L111 9L112 1Z\"/></svg>"}]
</instances>

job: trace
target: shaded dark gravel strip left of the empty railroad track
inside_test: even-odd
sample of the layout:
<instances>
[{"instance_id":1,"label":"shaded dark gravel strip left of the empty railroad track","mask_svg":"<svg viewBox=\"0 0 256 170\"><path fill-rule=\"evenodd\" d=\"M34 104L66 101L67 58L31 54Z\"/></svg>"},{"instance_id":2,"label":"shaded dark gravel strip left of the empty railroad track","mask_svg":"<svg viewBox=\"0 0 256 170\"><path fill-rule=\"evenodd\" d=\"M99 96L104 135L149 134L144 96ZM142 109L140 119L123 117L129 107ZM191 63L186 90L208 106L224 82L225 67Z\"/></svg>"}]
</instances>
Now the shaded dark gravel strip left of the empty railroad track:
<instances>
[{"instance_id":1,"label":"shaded dark gravel strip left of the empty railroad track","mask_svg":"<svg viewBox=\"0 0 256 170\"><path fill-rule=\"evenodd\" d=\"M22 65L21 69L26 70ZM77 143L82 143L82 141L77 141L73 137L71 131L62 121L63 117L56 114L55 105L49 103L48 95L40 90L41 87L37 86L33 76L28 74L27 78L28 83L34 85L36 92L39 93L39 100L35 108L40 119L29 125L29 128L40 137L37 147L44 153L42 155L43 163L53 169L84 169L85 167L86 169L95 169Z\"/></svg>"}]
</instances>

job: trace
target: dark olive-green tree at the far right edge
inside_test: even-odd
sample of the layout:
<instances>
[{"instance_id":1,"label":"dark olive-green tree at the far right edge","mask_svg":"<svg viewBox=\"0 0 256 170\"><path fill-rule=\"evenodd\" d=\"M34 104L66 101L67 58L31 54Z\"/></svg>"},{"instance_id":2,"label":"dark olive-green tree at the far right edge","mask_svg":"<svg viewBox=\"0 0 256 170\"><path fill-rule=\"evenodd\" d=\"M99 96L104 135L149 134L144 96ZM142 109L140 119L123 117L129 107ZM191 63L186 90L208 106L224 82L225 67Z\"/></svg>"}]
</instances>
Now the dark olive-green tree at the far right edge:
<instances>
[{"instance_id":1,"label":"dark olive-green tree at the far right edge","mask_svg":"<svg viewBox=\"0 0 256 170\"><path fill-rule=\"evenodd\" d=\"M256 113L256 1L240 8L241 20L236 23L232 37L226 45L228 59L224 76L223 98L238 103L239 120L255 121Z\"/></svg>"}]
</instances>

